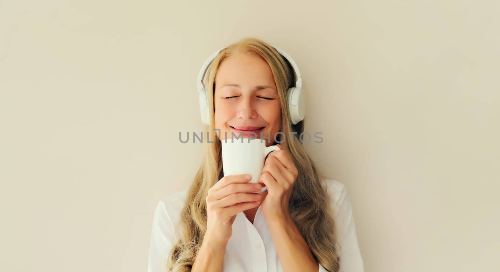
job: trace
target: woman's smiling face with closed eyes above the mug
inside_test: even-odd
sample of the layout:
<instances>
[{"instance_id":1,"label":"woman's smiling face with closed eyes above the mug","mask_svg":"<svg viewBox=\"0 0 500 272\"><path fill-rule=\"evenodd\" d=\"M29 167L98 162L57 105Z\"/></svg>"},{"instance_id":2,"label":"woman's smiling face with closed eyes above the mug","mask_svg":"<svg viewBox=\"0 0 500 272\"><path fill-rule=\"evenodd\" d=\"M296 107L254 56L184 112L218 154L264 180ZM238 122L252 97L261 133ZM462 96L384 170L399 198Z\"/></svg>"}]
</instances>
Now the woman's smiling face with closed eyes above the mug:
<instances>
[{"instance_id":1,"label":"woman's smiling face with closed eyes above the mug","mask_svg":"<svg viewBox=\"0 0 500 272\"><path fill-rule=\"evenodd\" d=\"M272 77L265 60L246 54L224 59L215 77L215 128L220 139L235 137L256 138L270 136L266 146L274 144L274 135L280 131L281 109ZM261 137L262 134L262 137ZM279 137L276 135L276 138Z\"/></svg>"}]
</instances>

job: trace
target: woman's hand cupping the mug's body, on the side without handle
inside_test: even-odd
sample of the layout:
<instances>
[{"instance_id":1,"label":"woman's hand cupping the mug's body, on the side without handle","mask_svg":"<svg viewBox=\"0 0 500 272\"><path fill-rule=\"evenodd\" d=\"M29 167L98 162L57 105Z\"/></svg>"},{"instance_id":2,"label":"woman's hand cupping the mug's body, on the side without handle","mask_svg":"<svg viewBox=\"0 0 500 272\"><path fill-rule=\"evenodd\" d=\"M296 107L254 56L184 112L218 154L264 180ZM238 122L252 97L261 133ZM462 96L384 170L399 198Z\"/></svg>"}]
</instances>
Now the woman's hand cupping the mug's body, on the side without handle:
<instances>
[{"instance_id":1,"label":"woman's hand cupping the mug's body, on the side without handle","mask_svg":"<svg viewBox=\"0 0 500 272\"><path fill-rule=\"evenodd\" d=\"M208 243L226 244L232 234L232 223L236 214L260 203L261 185L248 183L245 174L221 178L208 189L206 196L207 224L205 238ZM203 240L205 240L203 238Z\"/></svg>"}]
</instances>

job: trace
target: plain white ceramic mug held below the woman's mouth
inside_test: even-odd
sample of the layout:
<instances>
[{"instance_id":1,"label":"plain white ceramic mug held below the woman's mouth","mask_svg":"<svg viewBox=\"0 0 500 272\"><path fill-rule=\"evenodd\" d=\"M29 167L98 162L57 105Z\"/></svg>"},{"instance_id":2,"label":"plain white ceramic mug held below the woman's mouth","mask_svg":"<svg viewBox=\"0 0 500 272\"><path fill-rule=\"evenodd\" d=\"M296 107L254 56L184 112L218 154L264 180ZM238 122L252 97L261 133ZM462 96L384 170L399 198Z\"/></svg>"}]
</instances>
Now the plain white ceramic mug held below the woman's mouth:
<instances>
[{"instance_id":1,"label":"plain white ceramic mug held below the woman's mouth","mask_svg":"<svg viewBox=\"0 0 500 272\"><path fill-rule=\"evenodd\" d=\"M241 142L241 140L243 142ZM264 168L264 160L271 151L280 150L278 146L266 147L266 141L258 138L241 138L222 140L222 168L224 177L230 175L249 174L249 183L258 183L258 177ZM262 187L259 194L267 190Z\"/></svg>"}]
</instances>

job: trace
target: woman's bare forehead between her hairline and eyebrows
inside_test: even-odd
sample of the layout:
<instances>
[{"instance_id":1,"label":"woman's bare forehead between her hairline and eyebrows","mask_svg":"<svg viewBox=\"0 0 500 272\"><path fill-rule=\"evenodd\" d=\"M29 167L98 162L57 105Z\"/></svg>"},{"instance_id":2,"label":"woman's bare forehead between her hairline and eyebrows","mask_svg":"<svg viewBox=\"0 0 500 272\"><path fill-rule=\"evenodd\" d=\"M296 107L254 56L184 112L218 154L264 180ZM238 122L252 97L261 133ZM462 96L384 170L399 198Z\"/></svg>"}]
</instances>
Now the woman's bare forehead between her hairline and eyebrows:
<instances>
[{"instance_id":1,"label":"woman's bare forehead between her hairline and eyebrows","mask_svg":"<svg viewBox=\"0 0 500 272\"><path fill-rule=\"evenodd\" d=\"M265 60L258 56L236 54L220 63L215 83L220 87L224 84L274 86L274 78Z\"/></svg>"}]
</instances>

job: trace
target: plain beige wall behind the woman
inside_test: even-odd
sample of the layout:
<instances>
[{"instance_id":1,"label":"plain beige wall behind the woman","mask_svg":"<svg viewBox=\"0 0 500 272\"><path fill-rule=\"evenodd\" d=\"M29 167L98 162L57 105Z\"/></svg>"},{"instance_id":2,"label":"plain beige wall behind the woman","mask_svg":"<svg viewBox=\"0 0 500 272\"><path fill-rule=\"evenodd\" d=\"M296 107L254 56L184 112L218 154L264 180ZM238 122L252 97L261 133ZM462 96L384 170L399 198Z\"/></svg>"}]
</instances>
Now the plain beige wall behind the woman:
<instances>
[{"instance_id":1,"label":"plain beige wall behind the woman","mask_svg":"<svg viewBox=\"0 0 500 272\"><path fill-rule=\"evenodd\" d=\"M195 78L289 53L366 272L500 271L498 1L0 0L0 271L145 271L203 146Z\"/></svg>"}]
</instances>

